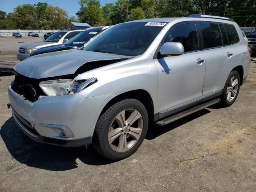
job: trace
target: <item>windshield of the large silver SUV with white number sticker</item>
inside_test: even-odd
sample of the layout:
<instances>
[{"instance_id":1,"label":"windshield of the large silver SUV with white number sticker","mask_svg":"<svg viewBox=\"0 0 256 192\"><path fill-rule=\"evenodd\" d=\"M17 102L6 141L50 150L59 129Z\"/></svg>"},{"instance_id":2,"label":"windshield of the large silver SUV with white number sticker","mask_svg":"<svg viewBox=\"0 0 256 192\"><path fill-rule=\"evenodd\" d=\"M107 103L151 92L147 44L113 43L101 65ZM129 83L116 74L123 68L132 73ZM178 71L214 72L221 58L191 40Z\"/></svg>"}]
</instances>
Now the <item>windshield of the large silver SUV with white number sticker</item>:
<instances>
[{"instance_id":1,"label":"windshield of the large silver SUV with white number sticker","mask_svg":"<svg viewBox=\"0 0 256 192\"><path fill-rule=\"evenodd\" d=\"M84 50L119 55L143 54L166 23L128 22L106 30L90 42Z\"/></svg>"}]
</instances>

